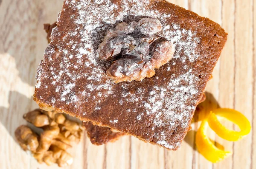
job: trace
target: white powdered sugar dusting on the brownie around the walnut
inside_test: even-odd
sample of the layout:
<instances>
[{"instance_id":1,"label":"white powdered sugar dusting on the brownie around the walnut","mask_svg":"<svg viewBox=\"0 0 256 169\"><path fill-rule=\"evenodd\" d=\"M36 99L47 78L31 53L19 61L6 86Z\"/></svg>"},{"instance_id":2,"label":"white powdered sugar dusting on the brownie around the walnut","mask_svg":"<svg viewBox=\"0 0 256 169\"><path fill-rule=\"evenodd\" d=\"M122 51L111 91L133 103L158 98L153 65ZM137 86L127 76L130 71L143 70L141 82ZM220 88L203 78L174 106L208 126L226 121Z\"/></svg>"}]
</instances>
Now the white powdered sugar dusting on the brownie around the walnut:
<instances>
[{"instance_id":1,"label":"white powdered sugar dusting on the brownie around the walnut","mask_svg":"<svg viewBox=\"0 0 256 169\"><path fill-rule=\"evenodd\" d=\"M152 121L152 130L165 127L170 131L177 130L179 127L189 127L189 121L192 118L191 112L195 110L195 103L191 98L194 98L198 94L198 90L195 86L198 82L198 76L195 76L192 69L188 69L185 62L195 62L198 59L198 54L195 51L196 45L200 43L200 39L195 37L196 32L192 32L189 28L182 28L180 25L173 24L168 25L166 19L170 14L160 14L157 10L146 9L145 5L149 4L149 0L122 0L122 10L115 16L113 13L119 7L116 4L111 3L111 0L94 0L91 3L90 0L65 0L66 8L78 10L78 16L71 15L70 20L76 25L73 30L67 32L62 38L62 42L57 45L57 51L51 44L45 51L45 56L49 56L48 62L54 58L61 56L63 59L58 62L58 70L55 68L49 68L51 76L49 77L51 85L55 87L56 93L61 93L60 98L52 98L49 103L55 106L58 101L62 101L65 104L75 104L75 107L79 107L81 100L79 98L84 97L83 101L87 102L88 97L93 98L95 101L94 110L100 110L101 98L108 98L113 95L113 86L115 85L111 79L106 77L105 71L97 60L97 53L94 43L95 40L103 37L99 37L97 32L107 31L109 25L116 24L116 22L122 22L126 16L145 16L157 18L163 25L162 37L171 41L175 45L175 54L170 61L169 67L166 71L172 69L172 65L176 62L184 63L184 72L180 75L173 74L170 79L165 79L168 82L168 87L163 88L156 83L153 88L147 91L148 95L145 95L143 89L138 88L135 93L127 91L128 83L121 85L123 91L121 93L122 98L119 100L120 106L125 103L133 103L134 109L129 109L126 113L137 112L137 109L142 108L145 112L138 112L138 115L134 121L141 121L144 117L154 116ZM129 4L133 5L130 6ZM95 5L97 4L97 8ZM93 8L93 10L91 10ZM65 11L61 12L64 13ZM61 17L60 14L60 17ZM60 18L59 17L59 18ZM59 22L59 19L58 19ZM54 28L52 31L52 39L60 36L58 28ZM77 39L79 41L72 41L70 39ZM99 42L101 42L101 39ZM68 46L63 48L62 46ZM90 68L90 72L81 73L79 68ZM40 88L46 84L42 83L45 72L42 72L41 66L38 68L37 84L36 88ZM67 77L66 79L63 76ZM174 78L175 77L175 78ZM76 93L76 89L79 88L77 81L84 79L85 89L80 93ZM155 79L158 79L156 74ZM105 83L102 84L101 82ZM99 83L96 83L99 82ZM186 85L183 85L186 84ZM48 84L49 85L49 84ZM81 95L81 96L78 96ZM137 97L137 96L140 97ZM171 97L170 97L171 96ZM138 101L143 104L137 104ZM47 101L45 101L47 102ZM191 102L191 106L187 105L187 102ZM178 111L177 111L178 110ZM83 113L86 115L87 113ZM179 121L179 122L177 122ZM117 123L118 120L110 120L110 123ZM142 121L143 122L143 121ZM172 145L166 141L166 134L161 132L155 132L154 138L157 139L157 144L165 146L166 148L173 149L180 146L180 142Z\"/></svg>"}]
</instances>

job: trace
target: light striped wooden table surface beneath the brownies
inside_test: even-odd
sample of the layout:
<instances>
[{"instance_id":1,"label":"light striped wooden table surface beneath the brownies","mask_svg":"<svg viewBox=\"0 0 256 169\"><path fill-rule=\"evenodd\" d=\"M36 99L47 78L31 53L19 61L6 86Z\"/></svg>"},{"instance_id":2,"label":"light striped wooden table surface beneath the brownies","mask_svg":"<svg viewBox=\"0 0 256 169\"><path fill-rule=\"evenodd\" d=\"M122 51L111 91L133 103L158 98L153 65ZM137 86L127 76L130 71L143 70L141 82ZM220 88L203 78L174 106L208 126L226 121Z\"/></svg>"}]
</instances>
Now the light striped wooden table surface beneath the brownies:
<instances>
[{"instance_id":1,"label":"light striped wooden table surface beneath the brownies","mask_svg":"<svg viewBox=\"0 0 256 169\"><path fill-rule=\"evenodd\" d=\"M256 0L169 1L209 17L229 34L214 78L207 85L207 101L200 105L201 112L195 113L192 131L176 152L131 136L94 146L84 134L80 144L68 151L74 162L66 169L256 169ZM38 107L32 94L36 69L47 46L43 23L53 23L61 6L62 0L0 0L0 169L58 168L38 164L22 151L14 131L26 124L23 113ZM244 113L252 131L235 143L209 131L217 146L233 152L212 164L198 153L194 142L197 121L217 106Z\"/></svg>"}]
</instances>

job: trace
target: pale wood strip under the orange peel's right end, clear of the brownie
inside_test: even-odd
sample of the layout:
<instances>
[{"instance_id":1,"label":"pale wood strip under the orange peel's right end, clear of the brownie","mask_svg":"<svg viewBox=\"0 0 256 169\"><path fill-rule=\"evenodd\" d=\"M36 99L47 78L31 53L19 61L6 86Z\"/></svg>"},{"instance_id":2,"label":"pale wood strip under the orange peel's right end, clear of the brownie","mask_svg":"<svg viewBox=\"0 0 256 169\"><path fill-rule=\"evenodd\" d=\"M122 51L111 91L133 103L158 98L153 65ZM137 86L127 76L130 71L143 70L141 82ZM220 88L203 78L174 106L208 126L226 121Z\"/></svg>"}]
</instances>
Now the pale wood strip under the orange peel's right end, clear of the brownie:
<instances>
[{"instance_id":1,"label":"pale wood strip under the orange peel's right end, clear of the brownie","mask_svg":"<svg viewBox=\"0 0 256 169\"><path fill-rule=\"evenodd\" d=\"M235 10L235 109L244 113L252 121L253 90L253 36L252 1L236 0ZM241 17L243 16L243 17ZM246 19L244 19L246 18ZM251 158L252 133L234 144L233 168L249 169ZM247 154L243 156L241 153Z\"/></svg>"}]
</instances>

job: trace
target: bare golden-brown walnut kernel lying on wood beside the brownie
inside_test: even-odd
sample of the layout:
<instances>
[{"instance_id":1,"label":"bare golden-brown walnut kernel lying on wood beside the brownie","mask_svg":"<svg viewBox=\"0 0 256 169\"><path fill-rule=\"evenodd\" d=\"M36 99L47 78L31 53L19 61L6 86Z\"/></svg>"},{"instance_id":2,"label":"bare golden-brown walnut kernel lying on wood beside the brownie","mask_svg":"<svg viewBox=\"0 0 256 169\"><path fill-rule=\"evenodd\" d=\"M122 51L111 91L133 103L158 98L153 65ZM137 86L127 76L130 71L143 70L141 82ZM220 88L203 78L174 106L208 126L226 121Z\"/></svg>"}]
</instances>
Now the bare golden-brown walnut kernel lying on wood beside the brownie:
<instances>
[{"instance_id":1,"label":"bare golden-brown walnut kernel lying on wood beside the brownie","mask_svg":"<svg viewBox=\"0 0 256 169\"><path fill-rule=\"evenodd\" d=\"M83 132L80 124L56 111L40 109L26 113L23 118L44 130L38 136L28 126L18 127L15 137L23 150L30 150L39 163L47 165L67 166L73 162L73 157L66 150L79 143Z\"/></svg>"}]
</instances>

